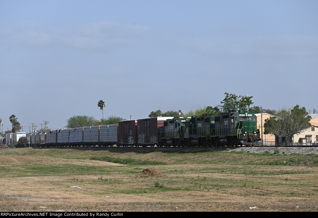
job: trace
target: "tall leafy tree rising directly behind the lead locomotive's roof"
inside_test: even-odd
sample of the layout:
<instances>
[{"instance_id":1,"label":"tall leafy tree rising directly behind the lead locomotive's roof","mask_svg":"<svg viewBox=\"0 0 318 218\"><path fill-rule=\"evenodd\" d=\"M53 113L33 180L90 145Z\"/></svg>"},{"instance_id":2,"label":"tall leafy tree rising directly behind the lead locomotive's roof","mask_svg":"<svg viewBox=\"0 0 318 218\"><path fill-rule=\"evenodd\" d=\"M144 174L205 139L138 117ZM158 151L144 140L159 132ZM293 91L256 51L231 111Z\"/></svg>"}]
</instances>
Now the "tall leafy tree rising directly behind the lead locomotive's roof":
<instances>
[{"instance_id":1,"label":"tall leafy tree rising directly behind the lead locomotive's roof","mask_svg":"<svg viewBox=\"0 0 318 218\"><path fill-rule=\"evenodd\" d=\"M221 104L223 105L219 105L223 109L223 112L228 112L229 110L249 110L251 104L253 104L253 96L237 96L227 92L225 92L224 95L225 98L221 101Z\"/></svg>"}]
</instances>

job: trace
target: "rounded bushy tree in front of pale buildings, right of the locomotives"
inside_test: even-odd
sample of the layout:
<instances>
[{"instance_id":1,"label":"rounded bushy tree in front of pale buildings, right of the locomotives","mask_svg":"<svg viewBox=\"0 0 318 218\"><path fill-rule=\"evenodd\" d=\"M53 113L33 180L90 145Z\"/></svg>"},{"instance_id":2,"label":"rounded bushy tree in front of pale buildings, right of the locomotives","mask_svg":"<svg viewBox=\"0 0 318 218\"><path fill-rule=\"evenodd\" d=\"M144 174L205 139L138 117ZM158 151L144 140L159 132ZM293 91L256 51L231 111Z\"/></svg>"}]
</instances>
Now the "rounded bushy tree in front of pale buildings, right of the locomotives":
<instances>
[{"instance_id":1,"label":"rounded bushy tree in front of pale buildings, right of the locomotives","mask_svg":"<svg viewBox=\"0 0 318 218\"><path fill-rule=\"evenodd\" d=\"M279 137L286 137L293 142L293 136L300 134L304 129L311 126L311 116L308 115L305 107L294 109L281 109L277 116L265 120L264 134L273 134Z\"/></svg>"}]
</instances>

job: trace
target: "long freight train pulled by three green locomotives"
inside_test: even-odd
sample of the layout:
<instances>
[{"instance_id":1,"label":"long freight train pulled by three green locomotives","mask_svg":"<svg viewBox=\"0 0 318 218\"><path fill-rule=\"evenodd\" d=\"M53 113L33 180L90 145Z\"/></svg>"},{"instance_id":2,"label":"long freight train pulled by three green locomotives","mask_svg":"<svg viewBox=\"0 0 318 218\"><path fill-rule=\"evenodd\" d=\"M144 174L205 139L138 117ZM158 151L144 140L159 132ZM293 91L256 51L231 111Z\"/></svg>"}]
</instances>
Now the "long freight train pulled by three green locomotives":
<instances>
[{"instance_id":1,"label":"long freight train pulled by three green locomotives","mask_svg":"<svg viewBox=\"0 0 318 218\"><path fill-rule=\"evenodd\" d=\"M257 117L230 110L219 115L154 117L118 124L49 130L20 137L16 147L180 147L253 146L260 144Z\"/></svg>"}]
</instances>

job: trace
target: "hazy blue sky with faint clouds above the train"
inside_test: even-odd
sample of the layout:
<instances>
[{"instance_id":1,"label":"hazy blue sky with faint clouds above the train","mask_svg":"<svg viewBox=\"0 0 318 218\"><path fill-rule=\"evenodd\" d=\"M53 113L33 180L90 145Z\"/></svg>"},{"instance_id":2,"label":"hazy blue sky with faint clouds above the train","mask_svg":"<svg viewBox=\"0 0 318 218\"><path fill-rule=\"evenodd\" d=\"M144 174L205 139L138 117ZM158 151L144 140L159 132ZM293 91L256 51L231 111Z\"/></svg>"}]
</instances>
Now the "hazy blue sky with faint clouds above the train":
<instances>
[{"instance_id":1,"label":"hazy blue sky with faint clouds above the train","mask_svg":"<svg viewBox=\"0 0 318 218\"><path fill-rule=\"evenodd\" d=\"M318 1L0 0L0 118L147 118L215 107L318 110ZM309 111L309 109L311 111ZM44 125L43 125L44 126Z\"/></svg>"}]
</instances>

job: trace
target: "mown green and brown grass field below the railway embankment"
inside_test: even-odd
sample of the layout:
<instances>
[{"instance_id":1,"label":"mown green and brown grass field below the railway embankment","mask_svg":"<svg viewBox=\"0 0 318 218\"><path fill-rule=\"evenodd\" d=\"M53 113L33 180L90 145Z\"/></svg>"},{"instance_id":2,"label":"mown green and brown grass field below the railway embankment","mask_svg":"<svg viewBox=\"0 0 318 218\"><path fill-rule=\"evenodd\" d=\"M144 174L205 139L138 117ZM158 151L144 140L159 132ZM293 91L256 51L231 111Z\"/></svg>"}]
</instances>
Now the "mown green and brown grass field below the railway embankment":
<instances>
[{"instance_id":1,"label":"mown green and brown grass field below the railway embankment","mask_svg":"<svg viewBox=\"0 0 318 218\"><path fill-rule=\"evenodd\" d=\"M107 147L0 156L0 211L318 211L318 155ZM138 177L144 168L162 175Z\"/></svg>"}]
</instances>

